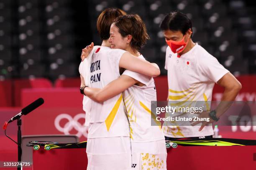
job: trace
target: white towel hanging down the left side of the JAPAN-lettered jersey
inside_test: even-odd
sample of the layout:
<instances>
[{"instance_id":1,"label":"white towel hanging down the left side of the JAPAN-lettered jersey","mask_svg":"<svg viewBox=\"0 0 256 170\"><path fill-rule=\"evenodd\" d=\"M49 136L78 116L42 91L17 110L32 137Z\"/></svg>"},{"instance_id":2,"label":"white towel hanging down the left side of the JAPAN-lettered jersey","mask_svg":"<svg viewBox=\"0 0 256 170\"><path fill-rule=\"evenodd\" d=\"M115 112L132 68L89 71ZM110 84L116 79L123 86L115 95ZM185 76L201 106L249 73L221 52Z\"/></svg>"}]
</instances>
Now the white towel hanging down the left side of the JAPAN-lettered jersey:
<instances>
[{"instance_id":1,"label":"white towel hanging down the left side of the JAPAN-lettered jersey","mask_svg":"<svg viewBox=\"0 0 256 170\"><path fill-rule=\"evenodd\" d=\"M92 55L100 46L94 46L87 58L84 59L79 65L79 73L84 77L85 85L91 87L90 82L90 65L92 61ZM85 111L85 123L84 126L88 126L90 123L90 112L92 109L92 100L84 95L83 110Z\"/></svg>"}]
</instances>

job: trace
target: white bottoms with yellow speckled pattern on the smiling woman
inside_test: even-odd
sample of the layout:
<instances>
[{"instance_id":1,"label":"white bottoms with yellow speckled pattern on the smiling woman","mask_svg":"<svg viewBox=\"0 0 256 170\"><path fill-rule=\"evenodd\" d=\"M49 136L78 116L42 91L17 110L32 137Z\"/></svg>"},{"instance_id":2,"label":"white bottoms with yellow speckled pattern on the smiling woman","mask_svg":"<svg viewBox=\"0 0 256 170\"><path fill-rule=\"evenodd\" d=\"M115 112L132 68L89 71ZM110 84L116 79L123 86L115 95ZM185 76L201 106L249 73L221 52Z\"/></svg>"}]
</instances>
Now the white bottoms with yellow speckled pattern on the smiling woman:
<instances>
[{"instance_id":1,"label":"white bottoms with yellow speckled pattern on the smiling woman","mask_svg":"<svg viewBox=\"0 0 256 170\"><path fill-rule=\"evenodd\" d=\"M167 152L165 140L131 142L132 170L166 170Z\"/></svg>"}]
</instances>

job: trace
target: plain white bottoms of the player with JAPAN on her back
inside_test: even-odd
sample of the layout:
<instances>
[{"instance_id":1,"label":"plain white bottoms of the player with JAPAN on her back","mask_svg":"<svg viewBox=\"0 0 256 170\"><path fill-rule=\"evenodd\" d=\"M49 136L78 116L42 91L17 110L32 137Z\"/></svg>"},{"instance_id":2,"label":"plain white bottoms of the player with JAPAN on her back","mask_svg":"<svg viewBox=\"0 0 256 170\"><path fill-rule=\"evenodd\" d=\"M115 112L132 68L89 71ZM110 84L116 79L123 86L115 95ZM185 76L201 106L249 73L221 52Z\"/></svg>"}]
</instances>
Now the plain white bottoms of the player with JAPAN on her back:
<instances>
[{"instance_id":1,"label":"plain white bottoms of the player with JAPAN on her back","mask_svg":"<svg viewBox=\"0 0 256 170\"><path fill-rule=\"evenodd\" d=\"M131 170L131 140L121 136L87 139L87 170Z\"/></svg>"}]
</instances>

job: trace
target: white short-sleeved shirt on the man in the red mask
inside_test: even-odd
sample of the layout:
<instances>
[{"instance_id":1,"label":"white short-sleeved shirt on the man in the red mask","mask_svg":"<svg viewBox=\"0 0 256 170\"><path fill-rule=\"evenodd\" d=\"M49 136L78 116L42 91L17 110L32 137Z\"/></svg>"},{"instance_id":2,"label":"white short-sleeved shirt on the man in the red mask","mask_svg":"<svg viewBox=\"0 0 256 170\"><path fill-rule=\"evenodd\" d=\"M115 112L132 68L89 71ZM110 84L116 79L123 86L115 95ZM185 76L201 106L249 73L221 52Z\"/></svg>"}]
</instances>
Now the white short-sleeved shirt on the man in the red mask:
<instances>
[{"instance_id":1,"label":"white short-sleeved shirt on the man in the red mask","mask_svg":"<svg viewBox=\"0 0 256 170\"><path fill-rule=\"evenodd\" d=\"M197 43L180 57L168 46L165 69L168 70L169 101L182 102L211 101L215 82L229 72ZM205 110L210 110L210 105ZM163 126L165 136L171 138L213 135L212 126L206 126L200 132L199 128L199 125Z\"/></svg>"}]
</instances>

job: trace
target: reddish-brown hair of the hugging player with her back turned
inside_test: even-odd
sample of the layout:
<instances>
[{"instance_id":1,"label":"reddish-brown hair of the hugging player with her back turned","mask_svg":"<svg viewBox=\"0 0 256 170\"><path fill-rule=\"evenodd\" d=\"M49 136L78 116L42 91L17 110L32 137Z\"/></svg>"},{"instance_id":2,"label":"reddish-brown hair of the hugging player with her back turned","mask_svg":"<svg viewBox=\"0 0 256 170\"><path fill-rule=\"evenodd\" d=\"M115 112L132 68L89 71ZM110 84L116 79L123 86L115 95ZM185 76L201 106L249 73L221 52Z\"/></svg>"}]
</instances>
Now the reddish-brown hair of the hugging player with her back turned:
<instances>
[{"instance_id":1,"label":"reddish-brown hair of the hugging player with her back turned","mask_svg":"<svg viewBox=\"0 0 256 170\"><path fill-rule=\"evenodd\" d=\"M118 8L107 8L102 11L97 19L97 30L102 41L108 40L110 37L110 26L114 22L115 18L123 15L126 15L126 13Z\"/></svg>"}]
</instances>

